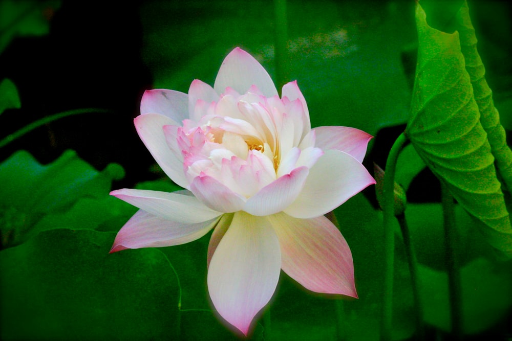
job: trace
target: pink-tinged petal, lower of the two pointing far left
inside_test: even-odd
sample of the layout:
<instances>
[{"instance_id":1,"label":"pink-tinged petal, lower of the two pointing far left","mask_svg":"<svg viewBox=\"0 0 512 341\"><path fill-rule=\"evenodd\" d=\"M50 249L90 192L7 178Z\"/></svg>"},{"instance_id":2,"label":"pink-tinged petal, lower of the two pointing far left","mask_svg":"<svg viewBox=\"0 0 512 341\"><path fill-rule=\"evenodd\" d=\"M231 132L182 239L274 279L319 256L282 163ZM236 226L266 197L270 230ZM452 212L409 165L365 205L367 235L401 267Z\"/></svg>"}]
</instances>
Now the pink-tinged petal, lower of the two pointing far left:
<instances>
[{"instance_id":1,"label":"pink-tinged petal, lower of the two pointing far left","mask_svg":"<svg viewBox=\"0 0 512 341\"><path fill-rule=\"evenodd\" d=\"M195 224L183 224L139 210L119 231L110 253L126 248L185 244L204 236L219 219L216 217Z\"/></svg>"}]
</instances>

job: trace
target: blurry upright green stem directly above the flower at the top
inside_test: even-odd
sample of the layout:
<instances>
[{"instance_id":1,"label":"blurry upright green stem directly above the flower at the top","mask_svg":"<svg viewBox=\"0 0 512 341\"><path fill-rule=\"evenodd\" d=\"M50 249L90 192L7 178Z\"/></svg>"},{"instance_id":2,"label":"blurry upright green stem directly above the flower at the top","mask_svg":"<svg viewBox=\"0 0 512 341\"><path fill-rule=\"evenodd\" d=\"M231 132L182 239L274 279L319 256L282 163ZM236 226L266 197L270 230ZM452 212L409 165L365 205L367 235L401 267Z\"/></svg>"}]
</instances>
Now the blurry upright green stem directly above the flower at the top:
<instances>
[{"instance_id":1,"label":"blurry upright green stem directly above the flower at the top","mask_svg":"<svg viewBox=\"0 0 512 341\"><path fill-rule=\"evenodd\" d=\"M274 0L275 11L275 78L278 89L288 81L288 24L286 19L286 0Z\"/></svg>"}]
</instances>

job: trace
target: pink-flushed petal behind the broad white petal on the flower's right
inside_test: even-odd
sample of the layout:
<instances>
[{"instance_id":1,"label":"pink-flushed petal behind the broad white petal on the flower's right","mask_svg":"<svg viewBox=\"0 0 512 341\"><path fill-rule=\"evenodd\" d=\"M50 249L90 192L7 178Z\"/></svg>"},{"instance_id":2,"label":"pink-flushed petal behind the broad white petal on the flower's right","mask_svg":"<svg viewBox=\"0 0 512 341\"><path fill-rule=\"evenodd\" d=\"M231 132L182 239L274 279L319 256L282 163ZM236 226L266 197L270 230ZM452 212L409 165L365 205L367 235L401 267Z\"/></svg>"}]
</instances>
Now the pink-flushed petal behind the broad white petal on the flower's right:
<instances>
[{"instance_id":1,"label":"pink-flushed petal behind the broad white petal on the flower's right","mask_svg":"<svg viewBox=\"0 0 512 341\"><path fill-rule=\"evenodd\" d=\"M373 138L369 133L350 127L325 126L312 130L316 134L316 147L344 151L359 162L365 158L368 142Z\"/></svg>"}]
</instances>

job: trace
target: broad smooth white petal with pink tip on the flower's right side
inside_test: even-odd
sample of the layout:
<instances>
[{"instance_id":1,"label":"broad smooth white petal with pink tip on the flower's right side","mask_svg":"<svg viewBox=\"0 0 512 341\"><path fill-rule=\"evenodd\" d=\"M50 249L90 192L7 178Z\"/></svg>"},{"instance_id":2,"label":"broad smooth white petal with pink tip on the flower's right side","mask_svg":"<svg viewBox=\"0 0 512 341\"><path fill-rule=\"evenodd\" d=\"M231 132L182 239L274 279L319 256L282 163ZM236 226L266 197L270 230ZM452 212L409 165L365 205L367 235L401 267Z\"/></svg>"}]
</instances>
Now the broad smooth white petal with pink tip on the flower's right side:
<instances>
[{"instance_id":1,"label":"broad smooth white petal with pink tip on the flower's right side","mask_svg":"<svg viewBox=\"0 0 512 341\"><path fill-rule=\"evenodd\" d=\"M309 170L304 189L285 213L314 218L334 210L375 180L353 156L327 150Z\"/></svg>"}]
</instances>

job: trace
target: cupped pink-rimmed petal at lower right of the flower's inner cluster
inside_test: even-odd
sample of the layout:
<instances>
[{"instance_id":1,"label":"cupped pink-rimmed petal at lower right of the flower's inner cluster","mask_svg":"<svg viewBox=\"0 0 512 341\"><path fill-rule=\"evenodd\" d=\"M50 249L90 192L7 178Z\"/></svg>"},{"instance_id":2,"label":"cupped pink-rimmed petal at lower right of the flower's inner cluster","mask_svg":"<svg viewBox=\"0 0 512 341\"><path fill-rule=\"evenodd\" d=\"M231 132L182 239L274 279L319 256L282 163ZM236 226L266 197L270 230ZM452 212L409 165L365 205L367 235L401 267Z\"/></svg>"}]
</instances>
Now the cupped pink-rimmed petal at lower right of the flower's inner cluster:
<instances>
[{"instance_id":1,"label":"cupped pink-rimmed petal at lower right of the flower's inner cluster","mask_svg":"<svg viewBox=\"0 0 512 341\"><path fill-rule=\"evenodd\" d=\"M244 211L255 216L278 213L287 208L301 193L309 169L299 167L273 181L250 197Z\"/></svg>"}]
</instances>

